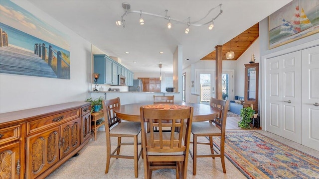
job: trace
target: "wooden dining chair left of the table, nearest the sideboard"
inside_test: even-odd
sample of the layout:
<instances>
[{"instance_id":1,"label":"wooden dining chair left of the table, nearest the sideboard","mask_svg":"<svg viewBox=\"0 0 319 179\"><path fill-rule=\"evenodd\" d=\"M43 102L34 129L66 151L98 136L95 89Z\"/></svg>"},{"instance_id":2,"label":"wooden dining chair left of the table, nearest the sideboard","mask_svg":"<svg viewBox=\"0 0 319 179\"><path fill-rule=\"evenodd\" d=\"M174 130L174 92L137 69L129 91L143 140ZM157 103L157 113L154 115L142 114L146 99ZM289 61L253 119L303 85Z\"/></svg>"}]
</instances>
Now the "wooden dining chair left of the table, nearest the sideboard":
<instances>
[{"instance_id":1,"label":"wooden dining chair left of the table, nearest the sideboard","mask_svg":"<svg viewBox=\"0 0 319 179\"><path fill-rule=\"evenodd\" d=\"M115 112L114 107L121 105L120 98L114 98L109 100L103 100L103 113L105 122L105 134L106 134L106 168L105 173L109 172L110 159L111 158L123 158L134 159L134 172L135 178L138 178L138 161L142 154L142 149L138 153L138 135L141 132L141 124L139 122L122 122ZM118 138L118 144L116 149L111 153L111 137ZM122 143L122 137L132 137L133 143ZM122 145L134 145L134 156L120 155L120 149ZM116 152L116 154L115 154Z\"/></svg>"}]
</instances>

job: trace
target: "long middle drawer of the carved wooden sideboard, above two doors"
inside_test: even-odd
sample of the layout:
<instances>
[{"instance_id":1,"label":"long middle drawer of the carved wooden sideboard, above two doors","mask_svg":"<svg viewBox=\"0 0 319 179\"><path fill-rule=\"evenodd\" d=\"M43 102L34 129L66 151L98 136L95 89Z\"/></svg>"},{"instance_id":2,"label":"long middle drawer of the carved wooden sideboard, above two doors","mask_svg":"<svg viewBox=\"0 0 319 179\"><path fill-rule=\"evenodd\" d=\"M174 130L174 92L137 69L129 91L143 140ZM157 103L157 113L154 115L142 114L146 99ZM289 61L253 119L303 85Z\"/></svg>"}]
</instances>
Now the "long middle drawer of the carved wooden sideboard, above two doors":
<instances>
[{"instance_id":1,"label":"long middle drawer of the carved wooden sideboard, above two doors","mask_svg":"<svg viewBox=\"0 0 319 179\"><path fill-rule=\"evenodd\" d=\"M75 109L60 114L52 115L49 117L37 119L26 123L26 135L29 135L35 131L51 127L54 125L60 125L64 121L74 119L80 116L80 110Z\"/></svg>"}]
</instances>

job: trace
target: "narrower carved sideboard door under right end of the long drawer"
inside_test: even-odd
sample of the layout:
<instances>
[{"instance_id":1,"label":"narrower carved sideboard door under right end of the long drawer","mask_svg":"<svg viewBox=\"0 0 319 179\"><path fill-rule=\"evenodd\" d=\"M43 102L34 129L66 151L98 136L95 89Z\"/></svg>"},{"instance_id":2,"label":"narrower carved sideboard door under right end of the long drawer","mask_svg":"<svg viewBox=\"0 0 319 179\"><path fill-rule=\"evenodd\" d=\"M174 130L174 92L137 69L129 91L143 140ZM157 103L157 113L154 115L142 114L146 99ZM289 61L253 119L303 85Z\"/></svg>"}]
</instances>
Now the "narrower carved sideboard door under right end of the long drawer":
<instances>
[{"instance_id":1,"label":"narrower carved sideboard door under right end of the long drawer","mask_svg":"<svg viewBox=\"0 0 319 179\"><path fill-rule=\"evenodd\" d=\"M60 159L80 145L80 118L60 125Z\"/></svg>"}]
</instances>

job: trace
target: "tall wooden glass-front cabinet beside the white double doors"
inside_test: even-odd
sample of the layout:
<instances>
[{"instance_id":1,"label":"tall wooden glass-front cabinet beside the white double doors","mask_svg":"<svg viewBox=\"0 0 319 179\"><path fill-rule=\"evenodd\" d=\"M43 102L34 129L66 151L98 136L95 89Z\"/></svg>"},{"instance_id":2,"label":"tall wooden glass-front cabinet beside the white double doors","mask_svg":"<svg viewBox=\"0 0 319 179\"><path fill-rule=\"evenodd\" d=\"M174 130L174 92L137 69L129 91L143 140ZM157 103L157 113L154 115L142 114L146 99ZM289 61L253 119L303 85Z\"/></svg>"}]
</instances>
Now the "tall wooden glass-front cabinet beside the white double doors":
<instances>
[{"instance_id":1,"label":"tall wooden glass-front cabinet beside the white double doors","mask_svg":"<svg viewBox=\"0 0 319 179\"><path fill-rule=\"evenodd\" d=\"M259 63L245 64L245 97L243 107L251 107L258 113Z\"/></svg>"}]
</instances>

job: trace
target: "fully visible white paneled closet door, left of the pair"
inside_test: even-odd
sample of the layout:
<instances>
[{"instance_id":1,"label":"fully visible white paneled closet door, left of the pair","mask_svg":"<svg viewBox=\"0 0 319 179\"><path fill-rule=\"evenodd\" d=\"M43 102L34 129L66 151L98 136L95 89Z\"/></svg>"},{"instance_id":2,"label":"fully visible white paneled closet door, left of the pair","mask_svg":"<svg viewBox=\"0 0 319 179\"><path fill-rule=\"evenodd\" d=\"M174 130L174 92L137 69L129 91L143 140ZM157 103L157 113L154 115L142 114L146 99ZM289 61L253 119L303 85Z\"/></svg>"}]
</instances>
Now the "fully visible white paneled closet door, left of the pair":
<instances>
[{"instance_id":1,"label":"fully visible white paneled closet door, left of the pair","mask_svg":"<svg viewBox=\"0 0 319 179\"><path fill-rule=\"evenodd\" d=\"M301 51L266 59L266 131L302 142Z\"/></svg>"}]
</instances>

